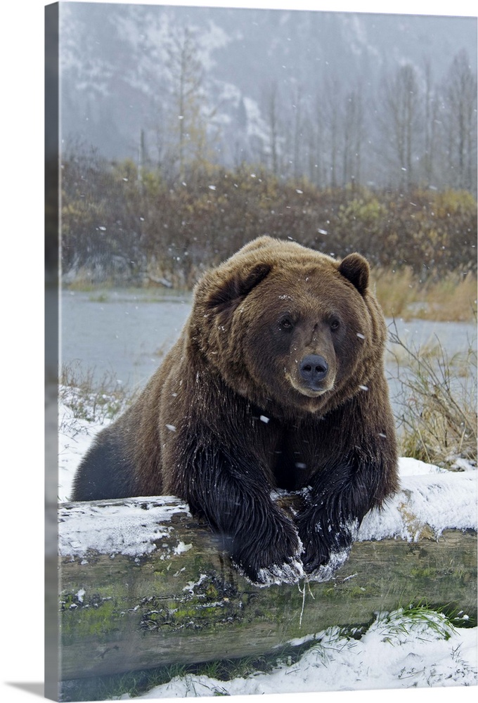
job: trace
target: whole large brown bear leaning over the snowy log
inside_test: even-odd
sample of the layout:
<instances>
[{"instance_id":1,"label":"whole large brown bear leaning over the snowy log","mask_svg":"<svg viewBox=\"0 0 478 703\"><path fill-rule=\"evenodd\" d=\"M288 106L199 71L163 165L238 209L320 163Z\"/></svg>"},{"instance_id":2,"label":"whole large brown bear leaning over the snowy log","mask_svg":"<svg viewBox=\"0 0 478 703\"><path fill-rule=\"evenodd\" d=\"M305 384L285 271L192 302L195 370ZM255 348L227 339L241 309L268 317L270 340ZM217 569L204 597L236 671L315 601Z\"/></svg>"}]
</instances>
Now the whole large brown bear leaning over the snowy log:
<instances>
[{"instance_id":1,"label":"whole large brown bear leaning over the snowy log","mask_svg":"<svg viewBox=\"0 0 478 703\"><path fill-rule=\"evenodd\" d=\"M179 496L253 583L329 578L397 488L368 278L360 254L269 236L206 273L162 366L86 453L73 499ZM295 515L278 488L299 491Z\"/></svg>"}]
</instances>

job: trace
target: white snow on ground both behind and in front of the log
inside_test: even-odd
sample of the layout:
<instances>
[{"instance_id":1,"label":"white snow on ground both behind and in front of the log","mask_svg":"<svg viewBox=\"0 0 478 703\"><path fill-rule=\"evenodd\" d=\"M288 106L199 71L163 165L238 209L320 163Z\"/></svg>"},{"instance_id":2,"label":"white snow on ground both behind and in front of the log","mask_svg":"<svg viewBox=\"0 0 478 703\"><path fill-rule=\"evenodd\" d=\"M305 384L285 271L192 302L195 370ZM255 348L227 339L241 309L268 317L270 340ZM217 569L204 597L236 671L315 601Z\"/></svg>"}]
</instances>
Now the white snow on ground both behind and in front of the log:
<instances>
[{"instance_id":1,"label":"white snow on ground both behind and in front of the log","mask_svg":"<svg viewBox=\"0 0 478 703\"><path fill-rule=\"evenodd\" d=\"M104 425L78 420L60 405L59 499L70 497L72 479L84 451ZM464 464L460 472L446 472L420 461L401 458L402 491L411 502L407 514L428 524L435 534L447 527L477 529L477 472ZM403 497L403 493L401 494ZM397 519L391 501L381 515L369 514L359 538L396 536L413 539L414 521ZM466 619L466 613L462 614ZM215 695L264 695L318 691L476 686L477 628L453 628L438 613L379 614L360 640L335 628L316 633L311 647L295 662L278 662L269 673L217 681L186 675L160 685L141 699ZM295 643L298 644L298 643ZM125 695L123 699L129 699Z\"/></svg>"}]
</instances>

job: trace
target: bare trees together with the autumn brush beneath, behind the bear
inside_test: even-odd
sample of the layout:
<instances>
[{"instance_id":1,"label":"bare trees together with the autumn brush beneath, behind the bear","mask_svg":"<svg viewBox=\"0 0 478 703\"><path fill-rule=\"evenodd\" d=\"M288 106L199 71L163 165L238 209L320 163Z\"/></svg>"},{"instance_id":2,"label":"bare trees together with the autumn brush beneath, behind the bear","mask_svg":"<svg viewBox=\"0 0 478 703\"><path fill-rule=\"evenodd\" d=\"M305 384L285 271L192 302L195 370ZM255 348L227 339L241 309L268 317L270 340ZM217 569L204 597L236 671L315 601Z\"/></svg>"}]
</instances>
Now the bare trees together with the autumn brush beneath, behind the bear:
<instances>
[{"instance_id":1,"label":"bare trees together with the autumn brush beneath, behind the bear","mask_svg":"<svg viewBox=\"0 0 478 703\"><path fill-rule=\"evenodd\" d=\"M61 157L61 262L65 281L157 281L190 288L206 266L267 233L420 276L476 270L477 76L465 51L446 80L401 65L367 105L363 86L324 84L315 104L299 85L285 110L264 94L264 136L221 165L214 114L188 30L169 56L171 90L152 149L108 162L84 144ZM309 96L310 98L310 96ZM173 119L174 117L174 119ZM380 183L364 182L370 117L381 134ZM376 143L376 141L375 141ZM370 153L368 153L370 169Z\"/></svg>"}]
</instances>

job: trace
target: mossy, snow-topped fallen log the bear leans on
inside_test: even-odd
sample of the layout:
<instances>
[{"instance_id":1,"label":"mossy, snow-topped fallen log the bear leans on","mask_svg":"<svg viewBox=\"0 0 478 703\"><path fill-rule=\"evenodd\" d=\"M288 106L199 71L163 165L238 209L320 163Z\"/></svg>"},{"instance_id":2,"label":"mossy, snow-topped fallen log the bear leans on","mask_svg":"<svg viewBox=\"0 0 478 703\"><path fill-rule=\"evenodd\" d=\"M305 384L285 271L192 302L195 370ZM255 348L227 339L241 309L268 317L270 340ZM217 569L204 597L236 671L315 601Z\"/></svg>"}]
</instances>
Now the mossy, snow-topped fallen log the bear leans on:
<instances>
[{"instance_id":1,"label":"mossy, snow-topped fallen log the bear leans on","mask_svg":"<svg viewBox=\"0 0 478 703\"><path fill-rule=\"evenodd\" d=\"M448 525L437 501L431 512L444 522L418 514L425 488L451 515L453 501L461 515L476 506L473 475L408 482L366 517L330 581L266 588L243 578L176 498L60 505L60 680L264 654L411 602L476 618L476 520Z\"/></svg>"}]
</instances>

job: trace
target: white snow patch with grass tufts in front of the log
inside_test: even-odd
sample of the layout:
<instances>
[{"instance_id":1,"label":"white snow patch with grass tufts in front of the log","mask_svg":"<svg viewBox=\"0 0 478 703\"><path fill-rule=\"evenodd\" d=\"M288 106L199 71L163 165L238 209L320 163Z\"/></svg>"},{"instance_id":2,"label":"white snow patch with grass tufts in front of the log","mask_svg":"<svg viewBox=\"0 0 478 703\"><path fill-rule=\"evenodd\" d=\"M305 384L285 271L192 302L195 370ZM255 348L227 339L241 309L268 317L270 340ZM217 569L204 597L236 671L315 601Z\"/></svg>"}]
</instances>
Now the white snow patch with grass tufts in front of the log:
<instances>
[{"instance_id":1,"label":"white snow patch with grass tufts in front of the log","mask_svg":"<svg viewBox=\"0 0 478 703\"><path fill-rule=\"evenodd\" d=\"M333 629L321 633L321 643L296 664L279 664L271 673L233 681L187 675L140 698L477 685L476 628L460 628L446 639L444 618L432 618L439 633L426 620L383 615L360 640L337 637Z\"/></svg>"}]
</instances>

